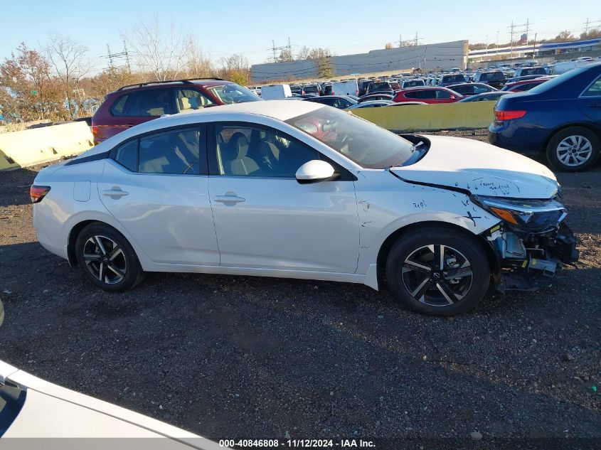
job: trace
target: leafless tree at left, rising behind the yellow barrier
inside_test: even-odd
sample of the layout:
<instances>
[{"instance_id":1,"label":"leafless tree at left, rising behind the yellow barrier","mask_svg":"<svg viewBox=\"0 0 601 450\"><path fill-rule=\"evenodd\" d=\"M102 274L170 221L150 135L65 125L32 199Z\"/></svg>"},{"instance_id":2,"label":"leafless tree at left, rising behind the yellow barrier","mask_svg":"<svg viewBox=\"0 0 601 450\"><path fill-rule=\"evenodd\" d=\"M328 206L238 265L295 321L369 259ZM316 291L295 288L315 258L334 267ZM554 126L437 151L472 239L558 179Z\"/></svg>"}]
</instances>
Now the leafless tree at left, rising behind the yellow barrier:
<instances>
[{"instance_id":1,"label":"leafless tree at left, rising behind the yellow barrier","mask_svg":"<svg viewBox=\"0 0 601 450\"><path fill-rule=\"evenodd\" d=\"M87 47L58 33L50 34L48 40L50 41L46 48L48 59L63 84L69 116L73 119L75 117L73 88L78 85L82 77L90 73L92 68L90 60L85 58Z\"/></svg>"}]
</instances>

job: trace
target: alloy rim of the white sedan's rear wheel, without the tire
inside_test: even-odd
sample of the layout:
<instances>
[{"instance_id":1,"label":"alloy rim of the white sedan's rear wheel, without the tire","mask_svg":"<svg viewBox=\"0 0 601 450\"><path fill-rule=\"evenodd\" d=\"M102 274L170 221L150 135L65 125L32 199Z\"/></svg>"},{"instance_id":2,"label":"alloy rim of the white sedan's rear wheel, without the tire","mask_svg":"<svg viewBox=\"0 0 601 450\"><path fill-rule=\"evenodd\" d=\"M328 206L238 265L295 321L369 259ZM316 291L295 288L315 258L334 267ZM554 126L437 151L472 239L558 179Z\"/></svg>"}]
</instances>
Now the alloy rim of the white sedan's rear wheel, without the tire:
<instances>
[{"instance_id":1,"label":"alloy rim of the white sedan's rear wheel, without the tire","mask_svg":"<svg viewBox=\"0 0 601 450\"><path fill-rule=\"evenodd\" d=\"M127 272L122 248L106 236L90 237L83 246L83 259L90 273L106 284L119 283Z\"/></svg>"}]
</instances>

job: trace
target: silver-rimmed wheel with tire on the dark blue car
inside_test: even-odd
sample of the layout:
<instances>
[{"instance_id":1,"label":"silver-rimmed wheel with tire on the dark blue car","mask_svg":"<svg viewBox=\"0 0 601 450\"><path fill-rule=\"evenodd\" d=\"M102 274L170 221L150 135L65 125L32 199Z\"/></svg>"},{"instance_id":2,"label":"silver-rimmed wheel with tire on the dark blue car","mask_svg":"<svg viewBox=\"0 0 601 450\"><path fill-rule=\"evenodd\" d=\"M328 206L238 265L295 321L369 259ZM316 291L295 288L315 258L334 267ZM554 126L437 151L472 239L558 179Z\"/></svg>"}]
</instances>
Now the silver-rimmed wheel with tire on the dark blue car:
<instances>
[{"instance_id":1,"label":"silver-rimmed wheel with tire on the dark blue car","mask_svg":"<svg viewBox=\"0 0 601 450\"><path fill-rule=\"evenodd\" d=\"M563 172L579 172L590 168L599 158L601 143L590 129L569 127L556 133L547 145L547 160Z\"/></svg>"}]
</instances>

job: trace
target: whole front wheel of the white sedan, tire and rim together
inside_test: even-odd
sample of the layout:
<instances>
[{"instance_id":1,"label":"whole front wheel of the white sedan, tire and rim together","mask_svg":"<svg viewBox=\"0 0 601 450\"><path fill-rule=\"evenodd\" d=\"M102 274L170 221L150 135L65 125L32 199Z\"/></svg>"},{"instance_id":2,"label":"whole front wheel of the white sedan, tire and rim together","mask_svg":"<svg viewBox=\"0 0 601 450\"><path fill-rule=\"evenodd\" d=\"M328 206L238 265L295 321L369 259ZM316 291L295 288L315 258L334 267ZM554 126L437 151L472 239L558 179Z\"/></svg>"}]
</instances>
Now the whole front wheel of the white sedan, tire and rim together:
<instances>
[{"instance_id":1,"label":"whole front wheel of the white sedan, tire and rim together","mask_svg":"<svg viewBox=\"0 0 601 450\"><path fill-rule=\"evenodd\" d=\"M489 260L477 237L447 227L422 227L399 237L386 278L395 299L413 311L453 316L473 309L490 282Z\"/></svg>"}]
</instances>

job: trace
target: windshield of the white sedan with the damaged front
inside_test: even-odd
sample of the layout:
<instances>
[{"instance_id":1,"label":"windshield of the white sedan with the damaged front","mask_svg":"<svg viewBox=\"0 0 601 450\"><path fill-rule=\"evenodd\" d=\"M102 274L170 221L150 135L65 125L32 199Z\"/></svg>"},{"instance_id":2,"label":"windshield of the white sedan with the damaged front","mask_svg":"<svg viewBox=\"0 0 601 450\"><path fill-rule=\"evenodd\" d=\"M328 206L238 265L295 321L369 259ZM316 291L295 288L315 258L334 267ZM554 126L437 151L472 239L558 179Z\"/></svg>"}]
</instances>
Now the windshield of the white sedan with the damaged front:
<instances>
[{"instance_id":1,"label":"windshield of the white sedan with the damaged front","mask_svg":"<svg viewBox=\"0 0 601 450\"><path fill-rule=\"evenodd\" d=\"M364 168L401 166L413 154L407 139L339 109L315 109L286 123Z\"/></svg>"}]
</instances>

